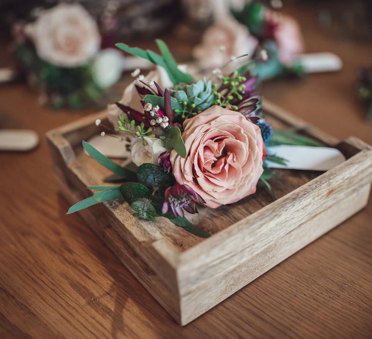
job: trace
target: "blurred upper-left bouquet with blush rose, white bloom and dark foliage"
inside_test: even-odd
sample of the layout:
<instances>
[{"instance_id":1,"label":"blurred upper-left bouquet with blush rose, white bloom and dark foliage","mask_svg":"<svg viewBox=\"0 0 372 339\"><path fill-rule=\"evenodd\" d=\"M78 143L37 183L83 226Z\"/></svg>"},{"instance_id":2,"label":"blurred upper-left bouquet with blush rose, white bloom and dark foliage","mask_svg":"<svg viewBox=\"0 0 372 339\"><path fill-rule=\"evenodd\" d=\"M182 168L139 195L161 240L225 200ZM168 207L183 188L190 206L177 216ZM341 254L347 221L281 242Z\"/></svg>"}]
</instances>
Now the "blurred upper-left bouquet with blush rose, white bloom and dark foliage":
<instances>
[{"instance_id":1,"label":"blurred upper-left bouquet with blush rose, white bloom and dark foliage","mask_svg":"<svg viewBox=\"0 0 372 339\"><path fill-rule=\"evenodd\" d=\"M126 68L119 50L100 49L95 19L77 3L40 10L14 33L20 68L40 92L39 102L53 108L103 108L108 89Z\"/></svg>"}]
</instances>

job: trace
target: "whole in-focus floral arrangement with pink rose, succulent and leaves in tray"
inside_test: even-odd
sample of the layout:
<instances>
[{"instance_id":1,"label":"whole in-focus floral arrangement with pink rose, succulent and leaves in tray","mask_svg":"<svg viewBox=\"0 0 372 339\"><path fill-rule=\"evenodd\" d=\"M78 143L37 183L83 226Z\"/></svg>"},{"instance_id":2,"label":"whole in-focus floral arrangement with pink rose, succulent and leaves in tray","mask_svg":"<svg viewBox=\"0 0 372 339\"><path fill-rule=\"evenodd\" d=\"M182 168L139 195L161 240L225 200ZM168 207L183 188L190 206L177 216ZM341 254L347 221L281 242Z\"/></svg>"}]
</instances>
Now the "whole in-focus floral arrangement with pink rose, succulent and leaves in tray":
<instances>
[{"instance_id":1,"label":"whole in-focus floral arrangement with pink rose, succulent and leaves in tray","mask_svg":"<svg viewBox=\"0 0 372 339\"><path fill-rule=\"evenodd\" d=\"M88 154L113 172L106 181L124 183L88 187L97 191L68 213L121 199L130 204L135 217L149 221L165 217L186 231L208 237L186 216L244 199L256 192L259 180L271 190L265 144L304 137L291 139L281 133L274 138L261 114L257 79L246 67L227 74L218 69L209 80L197 80L178 67L163 41L156 42L161 54L117 45L157 66L147 76L135 70L135 80L122 99L109 105L109 120L121 133L117 138L128 140L133 164L122 167L83 143Z\"/></svg>"}]
</instances>

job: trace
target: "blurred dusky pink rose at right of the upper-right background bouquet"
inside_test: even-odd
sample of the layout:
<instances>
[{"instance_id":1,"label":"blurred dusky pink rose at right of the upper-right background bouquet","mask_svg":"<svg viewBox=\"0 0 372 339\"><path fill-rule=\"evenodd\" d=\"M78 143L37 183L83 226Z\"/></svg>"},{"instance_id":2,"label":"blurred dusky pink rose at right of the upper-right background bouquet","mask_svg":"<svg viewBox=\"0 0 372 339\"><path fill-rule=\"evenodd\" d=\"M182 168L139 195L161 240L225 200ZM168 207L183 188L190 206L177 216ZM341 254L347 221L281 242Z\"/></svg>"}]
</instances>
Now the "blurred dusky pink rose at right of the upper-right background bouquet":
<instances>
[{"instance_id":1,"label":"blurred dusky pink rose at right of the upper-right background bouquet","mask_svg":"<svg viewBox=\"0 0 372 339\"><path fill-rule=\"evenodd\" d=\"M276 23L274 38L278 44L279 60L284 65L291 66L304 50L300 27L291 16L273 14L271 11L268 11L268 16Z\"/></svg>"}]
</instances>

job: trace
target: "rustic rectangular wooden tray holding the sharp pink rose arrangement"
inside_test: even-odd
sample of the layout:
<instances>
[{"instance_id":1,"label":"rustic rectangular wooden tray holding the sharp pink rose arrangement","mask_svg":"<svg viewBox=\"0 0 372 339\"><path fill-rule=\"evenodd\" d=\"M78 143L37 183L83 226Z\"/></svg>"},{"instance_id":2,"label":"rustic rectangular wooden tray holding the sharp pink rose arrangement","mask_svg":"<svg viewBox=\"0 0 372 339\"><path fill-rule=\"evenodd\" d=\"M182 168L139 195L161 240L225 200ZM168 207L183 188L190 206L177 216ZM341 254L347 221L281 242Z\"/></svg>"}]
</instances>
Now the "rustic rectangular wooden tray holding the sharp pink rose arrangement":
<instances>
[{"instance_id":1,"label":"rustic rectangular wooden tray holding the sharp pink rose arrangement","mask_svg":"<svg viewBox=\"0 0 372 339\"><path fill-rule=\"evenodd\" d=\"M267 103L274 127L308 126ZM93 114L47 133L55 174L71 203L89 197L109 171L83 153L82 139L102 128ZM262 187L233 205L202 209L190 220L209 231L198 238L165 218L143 221L127 203L79 212L124 265L181 325L194 320L253 279L362 209L372 181L372 148L356 138L343 142L312 128L309 135L335 146L347 160L327 172L277 170L276 201Z\"/></svg>"}]
</instances>

